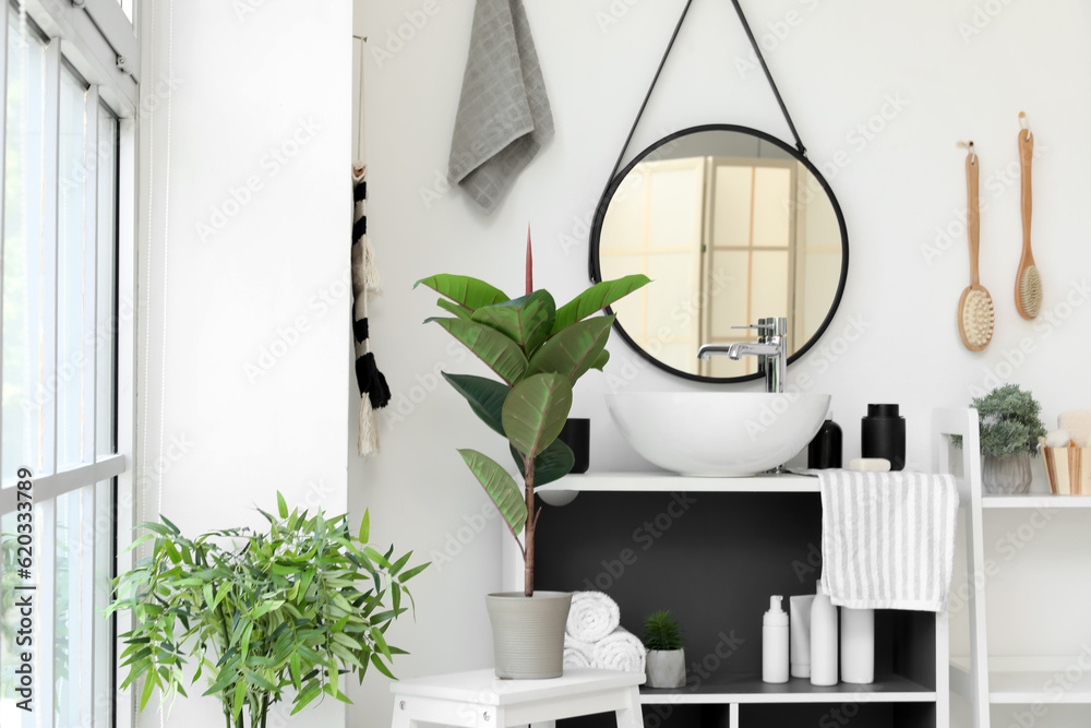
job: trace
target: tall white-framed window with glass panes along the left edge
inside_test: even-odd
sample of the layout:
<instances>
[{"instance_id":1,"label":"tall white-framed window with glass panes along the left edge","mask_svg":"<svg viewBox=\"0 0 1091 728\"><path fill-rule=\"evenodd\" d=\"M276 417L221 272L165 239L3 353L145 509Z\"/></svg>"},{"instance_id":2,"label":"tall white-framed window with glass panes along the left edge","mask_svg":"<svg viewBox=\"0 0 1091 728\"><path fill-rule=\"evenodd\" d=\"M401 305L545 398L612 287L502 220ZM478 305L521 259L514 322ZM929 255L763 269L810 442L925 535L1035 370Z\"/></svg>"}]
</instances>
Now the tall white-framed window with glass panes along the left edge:
<instances>
[{"instance_id":1,"label":"tall white-framed window with glass panes along the left edge","mask_svg":"<svg viewBox=\"0 0 1091 728\"><path fill-rule=\"evenodd\" d=\"M117 544L131 528L125 462L132 454L132 394L120 383L122 378L131 381L132 322L119 309L132 289L132 145L140 71L133 4L4 4L4 728L130 725L128 712L117 709L115 700L118 628L101 612L118 570ZM21 481L32 484L29 490ZM26 571L23 559L29 559ZM34 605L29 630L23 629L15 608L15 599L26 596ZM21 636L29 636L29 644L16 644ZM31 656L29 685L16 673L25 669L23 653ZM28 692L19 692L24 687ZM21 706L27 697L31 702Z\"/></svg>"}]
</instances>

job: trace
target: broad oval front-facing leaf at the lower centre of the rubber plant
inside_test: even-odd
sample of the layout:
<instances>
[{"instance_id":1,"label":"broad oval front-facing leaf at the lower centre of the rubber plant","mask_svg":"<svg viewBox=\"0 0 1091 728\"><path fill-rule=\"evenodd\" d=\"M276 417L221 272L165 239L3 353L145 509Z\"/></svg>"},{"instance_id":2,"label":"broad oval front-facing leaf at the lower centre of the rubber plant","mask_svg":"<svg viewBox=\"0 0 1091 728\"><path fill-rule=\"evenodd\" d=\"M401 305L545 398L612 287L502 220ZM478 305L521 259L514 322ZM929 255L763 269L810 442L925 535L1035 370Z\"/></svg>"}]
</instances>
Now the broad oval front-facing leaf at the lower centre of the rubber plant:
<instances>
[{"instance_id":1,"label":"broad oval front-facing leaf at the lower centre of the rubber plant","mask_svg":"<svg viewBox=\"0 0 1091 728\"><path fill-rule=\"evenodd\" d=\"M520 453L535 457L556 440L572 409L572 384L563 374L535 374L512 389L504 403L504 432Z\"/></svg>"}]
</instances>

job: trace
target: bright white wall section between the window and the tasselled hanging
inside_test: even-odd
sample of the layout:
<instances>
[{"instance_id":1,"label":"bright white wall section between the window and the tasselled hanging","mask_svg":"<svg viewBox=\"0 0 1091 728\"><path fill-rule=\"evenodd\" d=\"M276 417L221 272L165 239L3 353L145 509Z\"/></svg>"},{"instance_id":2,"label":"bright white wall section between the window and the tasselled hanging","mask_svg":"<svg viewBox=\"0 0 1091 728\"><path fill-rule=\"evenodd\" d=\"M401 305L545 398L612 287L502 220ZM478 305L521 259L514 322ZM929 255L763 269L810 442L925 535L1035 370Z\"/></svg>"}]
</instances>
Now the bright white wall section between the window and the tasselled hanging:
<instances>
[{"instance_id":1,"label":"bright white wall section between the window and the tasselled hanging","mask_svg":"<svg viewBox=\"0 0 1091 728\"><path fill-rule=\"evenodd\" d=\"M143 10L142 515L163 512L192 535L256 526L254 508L273 509L276 490L344 513L350 4L149 0ZM166 725L223 725L202 692L176 702ZM328 700L268 725L344 716ZM159 716L149 709L140 725Z\"/></svg>"}]
</instances>

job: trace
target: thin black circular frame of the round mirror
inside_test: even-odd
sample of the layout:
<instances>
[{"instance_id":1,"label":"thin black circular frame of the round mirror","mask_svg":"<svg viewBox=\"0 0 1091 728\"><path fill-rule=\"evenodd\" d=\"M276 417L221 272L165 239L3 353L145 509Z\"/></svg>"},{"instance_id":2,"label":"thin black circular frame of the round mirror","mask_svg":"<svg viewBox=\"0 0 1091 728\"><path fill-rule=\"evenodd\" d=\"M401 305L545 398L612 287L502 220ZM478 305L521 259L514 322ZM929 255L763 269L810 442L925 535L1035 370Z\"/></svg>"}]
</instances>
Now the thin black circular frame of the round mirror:
<instances>
[{"instance_id":1,"label":"thin black circular frame of the round mirror","mask_svg":"<svg viewBox=\"0 0 1091 728\"><path fill-rule=\"evenodd\" d=\"M829 198L830 203L834 205L834 212L837 214L837 224L841 231L841 278L838 281L837 284L837 293L834 296L834 302L830 305L829 312L827 312L826 318L822 322L822 325L818 326L814 335L811 336L811 338L808 338L802 347L796 349L794 354L788 357L787 363L791 365L794 361L796 361L801 356L806 354L811 349L811 347L814 346L819 338L822 338L822 335L826 333L826 330L829 327L830 322L834 320L834 314L837 313L837 309L841 305L841 296L844 293L846 281L849 277L849 235L844 226L844 216L841 214L841 205L838 204L837 198L834 195L834 190L830 189L829 183L826 181L826 178L823 177L822 174L818 171L818 168L815 167L813 164L811 164L810 159L800 154L799 150L789 146L788 144L777 139L776 136L767 134L763 131L751 129L750 127L740 127L738 124L702 124L698 127L690 127L687 129L676 131L673 134L670 134L669 136L664 136L663 139L659 140L658 142L649 146L648 148L644 150L644 152L638 154L636 157L634 157L633 160L630 162L624 169L618 172L618 175L612 180L610 180L610 184L602 193L602 198L601 200L599 200L598 207L596 207L595 210L595 222L591 225L591 235L590 238L588 239L588 258L589 258L591 283L602 282L602 271L599 263L599 242L602 236L602 222L606 218L607 208L610 206L610 201L613 199L614 193L621 186L622 180L625 179L628 172L632 171L636 165L647 159L648 156L650 156L656 150L666 146L667 144L670 144L680 136L685 136L688 134L695 134L705 131L741 132L748 134L751 136L756 136L760 140L764 140L780 147L781 150L790 154L792 158L799 160L804 167L807 168L807 170L812 175L814 175L815 179L818 180L818 183L822 184L823 190L826 191L826 195ZM611 307L607 307L606 310L607 313L609 314L614 313ZM760 379L765 375L760 371L754 374L746 374L744 377L703 377L700 374L691 374L690 372L681 371L679 369L675 369L674 367L663 363L659 359L655 358L650 353L637 346L636 342L634 342L632 337L628 335L628 333L625 331L625 327L621 325L621 321L615 319L613 327L618 332L618 334L625 341L625 343L630 346L630 348L635 350L637 354L639 354L642 357L650 361L656 367L659 367L663 371L674 374L676 377L682 377L683 379L688 379L695 382L707 382L712 384L733 384L738 382L751 382Z\"/></svg>"}]
</instances>

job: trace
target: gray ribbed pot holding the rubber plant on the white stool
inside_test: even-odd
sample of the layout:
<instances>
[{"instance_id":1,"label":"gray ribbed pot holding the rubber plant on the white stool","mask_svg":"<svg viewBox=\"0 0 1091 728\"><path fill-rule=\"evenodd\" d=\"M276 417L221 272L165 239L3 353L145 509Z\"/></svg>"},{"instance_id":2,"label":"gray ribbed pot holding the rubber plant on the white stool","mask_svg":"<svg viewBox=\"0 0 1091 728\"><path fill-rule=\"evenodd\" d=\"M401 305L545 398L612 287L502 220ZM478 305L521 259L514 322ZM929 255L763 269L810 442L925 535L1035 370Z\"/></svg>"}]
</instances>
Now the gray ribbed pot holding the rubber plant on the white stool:
<instances>
[{"instance_id":1,"label":"gray ribbed pot holding the rubber plant on the white stool","mask_svg":"<svg viewBox=\"0 0 1091 728\"><path fill-rule=\"evenodd\" d=\"M484 602L492 622L497 678L561 677L571 594L535 592L528 599L521 592L504 592L488 595Z\"/></svg>"}]
</instances>

